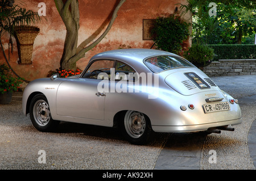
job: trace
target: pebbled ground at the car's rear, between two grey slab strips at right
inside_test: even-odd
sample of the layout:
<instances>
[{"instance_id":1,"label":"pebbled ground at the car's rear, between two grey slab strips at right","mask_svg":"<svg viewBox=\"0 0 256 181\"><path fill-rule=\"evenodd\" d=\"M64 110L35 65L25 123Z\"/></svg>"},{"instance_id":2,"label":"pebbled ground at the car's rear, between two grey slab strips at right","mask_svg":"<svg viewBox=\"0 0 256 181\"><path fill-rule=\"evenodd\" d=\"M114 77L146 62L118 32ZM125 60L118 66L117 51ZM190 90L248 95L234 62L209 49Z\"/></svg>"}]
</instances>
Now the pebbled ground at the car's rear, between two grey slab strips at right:
<instances>
[{"instance_id":1,"label":"pebbled ground at the car's rear, between two grey slab strips at right","mask_svg":"<svg viewBox=\"0 0 256 181\"><path fill-rule=\"evenodd\" d=\"M200 169L255 169L250 157L247 136L256 119L256 75L214 77L212 80L240 102L243 122L234 125L234 132L207 136L201 152ZM253 96L253 97L252 97ZM254 98L254 99L252 99ZM255 148L256 149L256 148ZM217 163L209 163L209 150L216 150Z\"/></svg>"}]
</instances>

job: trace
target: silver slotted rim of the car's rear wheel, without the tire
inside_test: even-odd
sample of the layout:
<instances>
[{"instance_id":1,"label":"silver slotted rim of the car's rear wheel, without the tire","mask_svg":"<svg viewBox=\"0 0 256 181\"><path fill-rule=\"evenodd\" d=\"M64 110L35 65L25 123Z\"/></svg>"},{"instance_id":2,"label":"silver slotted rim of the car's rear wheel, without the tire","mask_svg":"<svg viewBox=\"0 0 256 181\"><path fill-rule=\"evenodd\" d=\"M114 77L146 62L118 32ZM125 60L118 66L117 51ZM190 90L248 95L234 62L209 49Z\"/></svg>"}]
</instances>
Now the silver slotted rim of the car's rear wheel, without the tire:
<instances>
[{"instance_id":1,"label":"silver slotted rim of the car's rear wheel, without the tire","mask_svg":"<svg viewBox=\"0 0 256 181\"><path fill-rule=\"evenodd\" d=\"M125 115L125 129L129 136L139 138L146 129L146 120L141 112L127 111Z\"/></svg>"}]
</instances>

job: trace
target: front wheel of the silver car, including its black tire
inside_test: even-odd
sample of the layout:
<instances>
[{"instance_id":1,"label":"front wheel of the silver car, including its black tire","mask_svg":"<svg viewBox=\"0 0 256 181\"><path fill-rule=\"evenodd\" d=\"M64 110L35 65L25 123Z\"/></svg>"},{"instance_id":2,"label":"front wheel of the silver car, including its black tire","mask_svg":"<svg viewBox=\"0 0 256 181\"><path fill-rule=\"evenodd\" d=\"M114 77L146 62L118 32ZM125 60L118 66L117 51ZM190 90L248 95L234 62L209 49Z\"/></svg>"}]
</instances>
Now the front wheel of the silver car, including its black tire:
<instances>
[{"instance_id":1,"label":"front wheel of the silver car, including its black tire","mask_svg":"<svg viewBox=\"0 0 256 181\"><path fill-rule=\"evenodd\" d=\"M34 127L41 132L53 132L60 123L52 119L47 98L43 94L37 94L31 100L30 119Z\"/></svg>"}]
</instances>

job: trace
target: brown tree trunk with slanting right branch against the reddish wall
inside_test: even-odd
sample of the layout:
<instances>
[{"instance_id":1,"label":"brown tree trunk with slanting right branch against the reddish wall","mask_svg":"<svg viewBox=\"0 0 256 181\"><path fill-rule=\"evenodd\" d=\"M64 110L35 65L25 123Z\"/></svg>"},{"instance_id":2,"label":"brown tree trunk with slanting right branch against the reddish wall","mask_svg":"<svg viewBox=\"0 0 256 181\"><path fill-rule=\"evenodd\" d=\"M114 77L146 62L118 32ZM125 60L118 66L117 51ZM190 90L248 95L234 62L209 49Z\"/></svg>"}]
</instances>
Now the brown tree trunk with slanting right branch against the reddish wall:
<instances>
[{"instance_id":1,"label":"brown tree trunk with slanting right branch against the reddish wall","mask_svg":"<svg viewBox=\"0 0 256 181\"><path fill-rule=\"evenodd\" d=\"M85 53L95 47L106 36L112 27L117 12L126 0L120 0L113 11L112 19L102 35L88 47L77 52L77 40L79 32L79 2L77 0L54 0L57 10L65 24L67 34L65 37L63 55L60 60L61 69L76 69L76 62L85 56ZM65 3L64 3L65 2Z\"/></svg>"}]
</instances>

